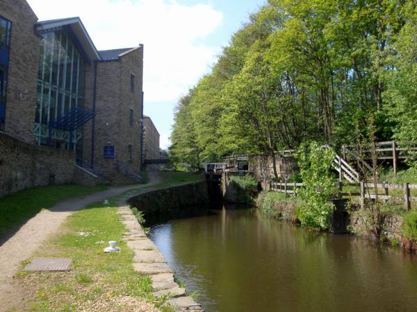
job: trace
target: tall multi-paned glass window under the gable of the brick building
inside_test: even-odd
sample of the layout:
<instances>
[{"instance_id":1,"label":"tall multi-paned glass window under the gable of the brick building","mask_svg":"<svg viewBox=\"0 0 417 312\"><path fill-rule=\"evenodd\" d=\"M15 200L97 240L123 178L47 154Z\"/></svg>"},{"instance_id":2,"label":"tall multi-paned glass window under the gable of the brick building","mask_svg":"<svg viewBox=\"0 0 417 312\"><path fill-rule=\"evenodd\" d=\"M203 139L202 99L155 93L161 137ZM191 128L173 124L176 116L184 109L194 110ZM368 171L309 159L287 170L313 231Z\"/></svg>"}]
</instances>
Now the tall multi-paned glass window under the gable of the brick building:
<instances>
[{"instance_id":1,"label":"tall multi-paned glass window under the gable of the brick building","mask_svg":"<svg viewBox=\"0 0 417 312\"><path fill-rule=\"evenodd\" d=\"M44 33L40 46L38 100L36 103L36 141L49 137L49 123L62 118L74 107L83 104L85 60L72 37L65 30ZM76 141L80 136L76 137ZM54 131L52 144L70 146L70 133ZM75 141L75 143L76 143ZM75 147L77 148L77 146Z\"/></svg>"}]
</instances>

